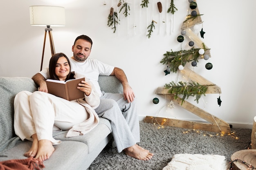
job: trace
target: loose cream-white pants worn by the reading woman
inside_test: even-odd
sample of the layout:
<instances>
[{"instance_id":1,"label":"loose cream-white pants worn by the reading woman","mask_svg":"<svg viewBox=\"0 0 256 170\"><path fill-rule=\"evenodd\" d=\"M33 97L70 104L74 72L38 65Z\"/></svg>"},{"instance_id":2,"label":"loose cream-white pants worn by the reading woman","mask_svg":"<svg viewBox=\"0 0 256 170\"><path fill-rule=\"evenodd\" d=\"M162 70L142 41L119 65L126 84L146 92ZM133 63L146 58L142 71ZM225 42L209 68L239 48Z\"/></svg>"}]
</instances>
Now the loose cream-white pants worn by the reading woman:
<instances>
[{"instance_id":1,"label":"loose cream-white pants worn by the reading woman","mask_svg":"<svg viewBox=\"0 0 256 170\"><path fill-rule=\"evenodd\" d=\"M53 145L61 141L52 137L53 126L69 130L89 118L84 106L76 100L68 101L49 93L21 91L14 99L14 130L20 139L47 139Z\"/></svg>"}]
</instances>

